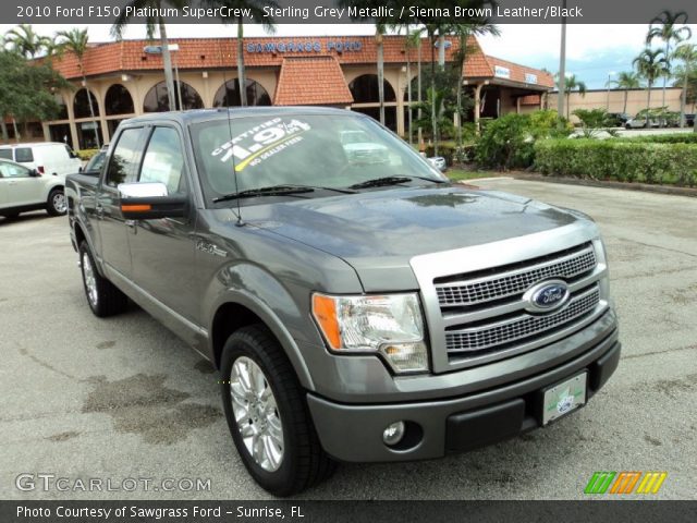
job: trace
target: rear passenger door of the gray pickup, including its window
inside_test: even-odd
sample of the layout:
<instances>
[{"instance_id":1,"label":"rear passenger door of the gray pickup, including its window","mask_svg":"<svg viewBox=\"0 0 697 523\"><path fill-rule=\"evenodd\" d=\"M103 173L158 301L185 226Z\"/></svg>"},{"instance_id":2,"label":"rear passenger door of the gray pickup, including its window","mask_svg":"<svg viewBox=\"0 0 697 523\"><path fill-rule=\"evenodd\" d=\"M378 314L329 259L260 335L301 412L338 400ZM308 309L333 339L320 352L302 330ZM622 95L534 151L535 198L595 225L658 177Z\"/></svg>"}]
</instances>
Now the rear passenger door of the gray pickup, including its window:
<instances>
[{"instance_id":1,"label":"rear passenger door of the gray pickup, including its window","mask_svg":"<svg viewBox=\"0 0 697 523\"><path fill-rule=\"evenodd\" d=\"M119 205L120 183L135 180L143 153L144 127L126 127L117 138L109 165L97 191L95 216L101 238L101 256L107 271L131 278L129 224Z\"/></svg>"}]
</instances>

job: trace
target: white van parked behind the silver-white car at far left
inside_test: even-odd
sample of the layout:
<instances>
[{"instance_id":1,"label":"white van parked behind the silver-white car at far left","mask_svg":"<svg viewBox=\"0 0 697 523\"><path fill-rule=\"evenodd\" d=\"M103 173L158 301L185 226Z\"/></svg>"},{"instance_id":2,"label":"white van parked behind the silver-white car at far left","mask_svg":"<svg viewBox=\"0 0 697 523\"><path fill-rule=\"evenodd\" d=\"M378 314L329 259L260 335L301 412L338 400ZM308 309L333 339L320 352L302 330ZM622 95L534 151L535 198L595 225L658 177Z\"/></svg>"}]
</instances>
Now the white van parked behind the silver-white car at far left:
<instances>
[{"instance_id":1,"label":"white van parked behind the silver-white car at far left","mask_svg":"<svg viewBox=\"0 0 697 523\"><path fill-rule=\"evenodd\" d=\"M73 149L58 142L0 145L0 158L36 169L40 174L63 177L80 171L83 163Z\"/></svg>"}]
</instances>

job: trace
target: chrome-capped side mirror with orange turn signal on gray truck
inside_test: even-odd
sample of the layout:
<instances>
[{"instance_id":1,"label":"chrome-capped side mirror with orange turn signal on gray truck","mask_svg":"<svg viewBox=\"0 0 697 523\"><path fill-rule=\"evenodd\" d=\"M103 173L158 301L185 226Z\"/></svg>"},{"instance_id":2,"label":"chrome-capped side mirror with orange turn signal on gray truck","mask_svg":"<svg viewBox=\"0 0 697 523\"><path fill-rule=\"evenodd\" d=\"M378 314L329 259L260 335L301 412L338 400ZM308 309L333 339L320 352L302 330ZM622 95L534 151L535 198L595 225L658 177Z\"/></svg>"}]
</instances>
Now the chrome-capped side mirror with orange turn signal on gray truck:
<instances>
[{"instance_id":1,"label":"chrome-capped side mirror with orange turn signal on gray truck","mask_svg":"<svg viewBox=\"0 0 697 523\"><path fill-rule=\"evenodd\" d=\"M121 214L126 219L183 218L186 214L186 196L170 196L161 182L121 183L118 188Z\"/></svg>"}]
</instances>

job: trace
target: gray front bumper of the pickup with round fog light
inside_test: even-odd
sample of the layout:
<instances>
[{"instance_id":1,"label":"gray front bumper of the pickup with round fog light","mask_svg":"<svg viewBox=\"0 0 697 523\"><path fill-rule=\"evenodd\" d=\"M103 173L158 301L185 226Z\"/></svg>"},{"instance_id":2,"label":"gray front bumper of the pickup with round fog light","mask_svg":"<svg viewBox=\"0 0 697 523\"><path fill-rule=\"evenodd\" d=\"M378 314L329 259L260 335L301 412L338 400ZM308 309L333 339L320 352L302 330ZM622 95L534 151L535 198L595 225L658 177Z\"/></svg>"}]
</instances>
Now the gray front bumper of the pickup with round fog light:
<instances>
[{"instance_id":1,"label":"gray front bumper of the pickup with round fog light","mask_svg":"<svg viewBox=\"0 0 697 523\"><path fill-rule=\"evenodd\" d=\"M325 450L350 462L407 461L440 458L523 434L541 425L542 389L588 372L587 398L607 382L620 361L613 330L592 349L562 365L524 379L439 401L393 404L343 404L308 393L309 410ZM382 431L406 421L409 442L394 449ZM409 430L414 430L409 435ZM407 439L405 436L405 440Z\"/></svg>"}]
</instances>

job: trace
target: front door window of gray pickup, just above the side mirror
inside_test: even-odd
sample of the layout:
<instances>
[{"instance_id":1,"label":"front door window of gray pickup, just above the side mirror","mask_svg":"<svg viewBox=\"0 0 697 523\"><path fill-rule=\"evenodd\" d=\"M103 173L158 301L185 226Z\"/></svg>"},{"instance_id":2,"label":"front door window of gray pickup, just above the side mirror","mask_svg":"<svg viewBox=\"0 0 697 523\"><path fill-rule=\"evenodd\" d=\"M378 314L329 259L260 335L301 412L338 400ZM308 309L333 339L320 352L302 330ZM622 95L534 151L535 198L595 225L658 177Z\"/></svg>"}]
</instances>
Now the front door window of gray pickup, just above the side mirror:
<instances>
[{"instance_id":1,"label":"front door window of gray pickup, just above the side mirror","mask_svg":"<svg viewBox=\"0 0 697 523\"><path fill-rule=\"evenodd\" d=\"M138 182L161 182L169 194L183 192L184 155L172 127L155 127L145 151Z\"/></svg>"}]
</instances>

